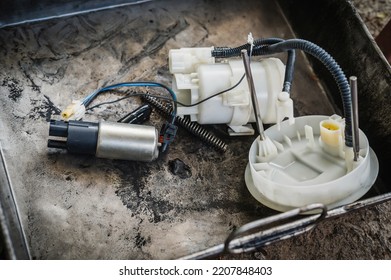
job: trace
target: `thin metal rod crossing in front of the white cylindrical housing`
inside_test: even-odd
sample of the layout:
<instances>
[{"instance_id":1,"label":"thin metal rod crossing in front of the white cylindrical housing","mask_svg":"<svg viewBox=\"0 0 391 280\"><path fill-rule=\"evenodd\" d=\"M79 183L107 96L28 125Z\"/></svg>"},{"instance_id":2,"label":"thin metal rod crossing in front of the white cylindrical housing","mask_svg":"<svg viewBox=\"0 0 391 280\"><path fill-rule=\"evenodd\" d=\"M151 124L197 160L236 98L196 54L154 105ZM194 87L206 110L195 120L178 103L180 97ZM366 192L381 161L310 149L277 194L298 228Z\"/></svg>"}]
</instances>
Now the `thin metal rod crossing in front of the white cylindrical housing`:
<instances>
[{"instance_id":1,"label":"thin metal rod crossing in front of the white cylindrical housing","mask_svg":"<svg viewBox=\"0 0 391 280\"><path fill-rule=\"evenodd\" d=\"M261 141L264 141L265 134L264 134L263 124L262 124L261 111L259 110L257 93L255 91L254 80L253 80L253 76L251 73L251 67L250 67L250 58L247 54L247 50L242 50L242 58L243 58L243 63L244 63L244 69L246 71L248 87L249 87L250 93L251 93L251 102L253 105L255 122L257 124L257 129L259 132L259 138Z\"/></svg>"}]
</instances>

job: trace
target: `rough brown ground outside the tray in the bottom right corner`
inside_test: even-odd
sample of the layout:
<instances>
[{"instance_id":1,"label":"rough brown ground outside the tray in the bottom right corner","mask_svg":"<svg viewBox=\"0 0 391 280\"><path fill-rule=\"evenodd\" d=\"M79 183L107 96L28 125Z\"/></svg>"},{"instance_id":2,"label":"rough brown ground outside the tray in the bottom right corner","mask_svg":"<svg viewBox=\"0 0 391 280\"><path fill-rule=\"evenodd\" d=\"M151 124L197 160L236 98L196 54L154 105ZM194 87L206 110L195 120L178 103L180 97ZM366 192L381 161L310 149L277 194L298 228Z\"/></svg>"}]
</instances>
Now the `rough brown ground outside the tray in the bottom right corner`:
<instances>
[{"instance_id":1,"label":"rough brown ground outside the tray in the bottom right corner","mask_svg":"<svg viewBox=\"0 0 391 280\"><path fill-rule=\"evenodd\" d=\"M391 204L366 208L319 224L314 230L265 247L267 259L390 259Z\"/></svg>"}]
</instances>

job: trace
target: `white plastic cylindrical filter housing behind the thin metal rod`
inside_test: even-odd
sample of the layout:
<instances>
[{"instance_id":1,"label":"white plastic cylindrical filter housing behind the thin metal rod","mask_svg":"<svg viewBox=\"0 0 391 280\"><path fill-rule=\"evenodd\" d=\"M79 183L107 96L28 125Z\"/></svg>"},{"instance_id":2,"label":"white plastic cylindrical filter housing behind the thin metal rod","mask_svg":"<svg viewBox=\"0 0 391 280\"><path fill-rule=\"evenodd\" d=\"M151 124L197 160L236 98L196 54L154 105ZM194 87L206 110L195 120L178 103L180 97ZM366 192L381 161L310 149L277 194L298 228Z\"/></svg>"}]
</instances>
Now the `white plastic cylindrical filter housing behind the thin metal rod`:
<instances>
[{"instance_id":1,"label":"white plastic cylindrical filter housing behind the thin metal rod","mask_svg":"<svg viewBox=\"0 0 391 280\"><path fill-rule=\"evenodd\" d=\"M245 73L240 59L215 63L211 48L170 51L173 89L184 104L194 104L234 86ZM281 92L285 66L277 58L251 62L263 123L293 120L293 101ZM234 130L255 122L247 79L234 89L193 107L178 107L178 115L190 115L200 124L228 124Z\"/></svg>"}]
</instances>

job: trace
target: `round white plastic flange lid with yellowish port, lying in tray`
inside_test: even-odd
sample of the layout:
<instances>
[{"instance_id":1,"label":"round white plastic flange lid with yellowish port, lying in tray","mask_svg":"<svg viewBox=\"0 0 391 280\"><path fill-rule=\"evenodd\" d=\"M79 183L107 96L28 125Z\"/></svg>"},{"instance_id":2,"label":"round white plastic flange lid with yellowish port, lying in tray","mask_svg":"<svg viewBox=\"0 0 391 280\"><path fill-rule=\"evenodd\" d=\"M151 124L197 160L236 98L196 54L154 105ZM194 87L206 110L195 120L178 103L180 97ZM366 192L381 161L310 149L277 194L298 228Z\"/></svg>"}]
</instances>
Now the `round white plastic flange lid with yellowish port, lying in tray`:
<instances>
[{"instance_id":1,"label":"round white plastic flange lid with yellowish port, lying in tray","mask_svg":"<svg viewBox=\"0 0 391 280\"><path fill-rule=\"evenodd\" d=\"M336 129L321 137L324 122L336 124ZM343 120L336 116L305 116L293 125L284 121L280 129L276 125L267 129L265 135L275 143L278 155L263 161L258 156L262 143L259 138L253 142L245 174L250 193L278 211L311 203L334 208L359 199L377 177L377 158L360 130L360 156L353 161L351 148L334 133L341 132L339 128ZM324 139L329 146L336 144L335 150L325 148Z\"/></svg>"}]
</instances>

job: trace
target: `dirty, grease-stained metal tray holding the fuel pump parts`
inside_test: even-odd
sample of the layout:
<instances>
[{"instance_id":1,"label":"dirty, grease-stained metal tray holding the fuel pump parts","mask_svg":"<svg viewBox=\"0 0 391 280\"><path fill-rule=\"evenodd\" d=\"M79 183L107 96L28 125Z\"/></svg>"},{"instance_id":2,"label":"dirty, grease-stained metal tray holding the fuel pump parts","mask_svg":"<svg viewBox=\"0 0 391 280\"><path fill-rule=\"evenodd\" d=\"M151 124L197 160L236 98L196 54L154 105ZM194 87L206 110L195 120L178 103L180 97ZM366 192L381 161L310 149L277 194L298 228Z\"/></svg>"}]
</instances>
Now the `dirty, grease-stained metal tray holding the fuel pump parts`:
<instances>
[{"instance_id":1,"label":"dirty, grease-stained metal tray holding the fuel pump parts","mask_svg":"<svg viewBox=\"0 0 391 280\"><path fill-rule=\"evenodd\" d=\"M183 130L169 152L151 163L47 149L48 121L58 118L72 99L117 82L170 84L170 49L237 46L248 32L313 41L348 76L358 76L360 127L380 165L375 185L358 202L329 210L315 204L286 213L261 205L244 180L254 139L230 138L224 126L206 127L228 144L224 154ZM5 27L0 43L3 257L217 257L260 249L321 220L391 198L391 174L384 168L391 157L390 66L349 2L153 1ZM113 98L103 95L100 101ZM301 53L292 98L296 115L340 113L332 77ZM85 119L117 120L140 103L130 99L101 106ZM161 123L154 114L150 124ZM171 170L177 160L186 166L180 174ZM301 215L314 209L320 214Z\"/></svg>"}]
</instances>

